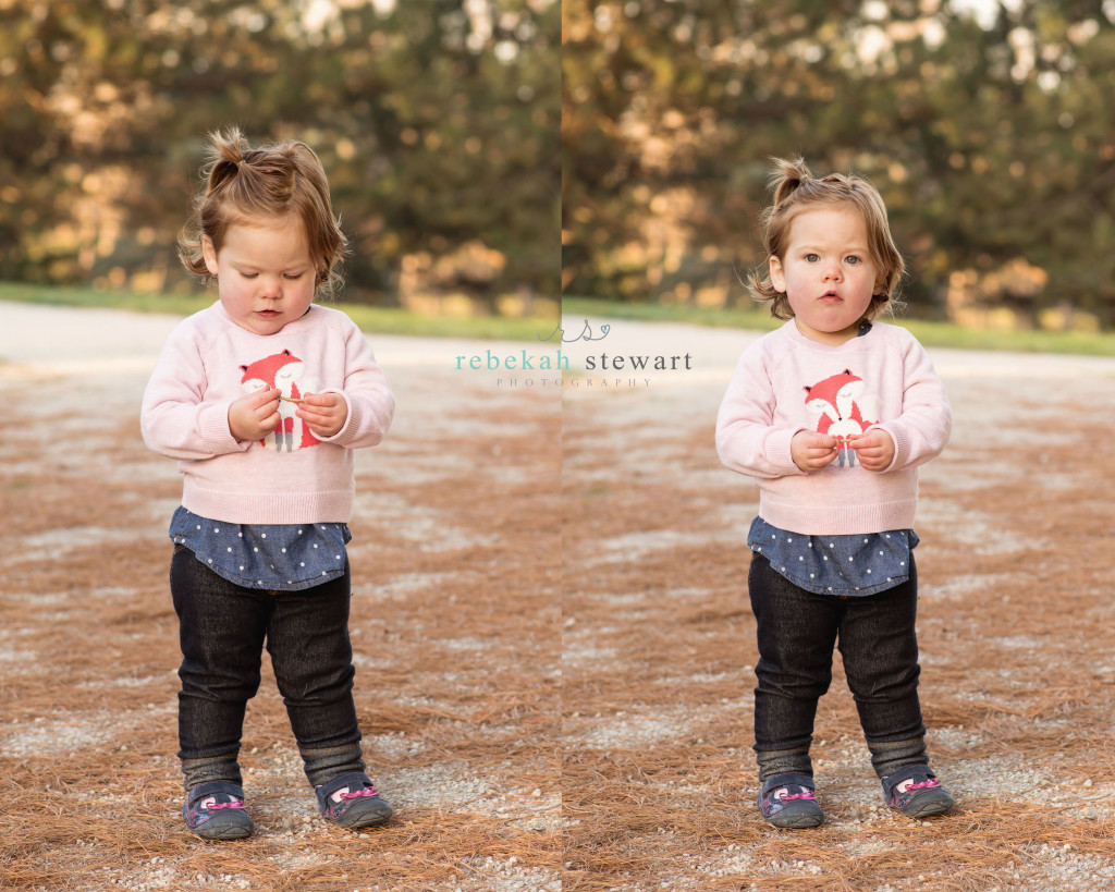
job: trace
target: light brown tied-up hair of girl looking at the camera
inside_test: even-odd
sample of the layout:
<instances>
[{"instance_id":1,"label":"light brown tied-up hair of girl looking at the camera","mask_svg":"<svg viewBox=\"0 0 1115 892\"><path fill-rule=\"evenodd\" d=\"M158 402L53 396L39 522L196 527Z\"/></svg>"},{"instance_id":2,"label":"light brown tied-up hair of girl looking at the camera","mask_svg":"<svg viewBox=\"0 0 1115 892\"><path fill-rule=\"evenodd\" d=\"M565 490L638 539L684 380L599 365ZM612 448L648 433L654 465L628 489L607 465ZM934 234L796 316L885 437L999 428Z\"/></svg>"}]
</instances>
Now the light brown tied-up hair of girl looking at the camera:
<instances>
[{"instance_id":1,"label":"light brown tied-up hair of girl looking at the camera","mask_svg":"<svg viewBox=\"0 0 1115 892\"><path fill-rule=\"evenodd\" d=\"M789 245L789 227L798 214L818 206L843 204L851 205L863 215L867 227L867 250L879 268L875 291L863 318L870 320L880 312L899 309L898 287L905 272L905 261L894 245L886 220L886 205L883 204L879 190L857 174L828 174L816 180L805 166L804 158L772 161L774 169L770 191L774 193L774 203L760 217L763 246L767 256L763 265L748 278L747 285L752 297L760 303L769 303L770 314L776 319L794 317L786 292L778 291L770 281L770 258L785 259Z\"/></svg>"}]
</instances>

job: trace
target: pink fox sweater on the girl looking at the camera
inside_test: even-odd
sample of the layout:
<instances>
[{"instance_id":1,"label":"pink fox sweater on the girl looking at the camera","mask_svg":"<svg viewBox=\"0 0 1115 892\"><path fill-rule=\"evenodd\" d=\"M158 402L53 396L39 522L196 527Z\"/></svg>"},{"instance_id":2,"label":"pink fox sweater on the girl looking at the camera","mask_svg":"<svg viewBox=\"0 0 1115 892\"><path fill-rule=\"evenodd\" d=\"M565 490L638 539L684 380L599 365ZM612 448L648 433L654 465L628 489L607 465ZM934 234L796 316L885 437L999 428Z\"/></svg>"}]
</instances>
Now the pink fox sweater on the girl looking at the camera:
<instances>
[{"instance_id":1,"label":"pink fox sweater on the girl looking at the camera","mask_svg":"<svg viewBox=\"0 0 1115 892\"><path fill-rule=\"evenodd\" d=\"M886 471L833 462L806 474L791 457L799 430L843 437L870 428L894 440ZM716 446L725 465L757 478L767 523L803 535L880 533L913 526L918 465L944 448L951 429L944 386L909 331L875 322L866 334L828 347L791 320L739 358L720 404Z\"/></svg>"}]
</instances>

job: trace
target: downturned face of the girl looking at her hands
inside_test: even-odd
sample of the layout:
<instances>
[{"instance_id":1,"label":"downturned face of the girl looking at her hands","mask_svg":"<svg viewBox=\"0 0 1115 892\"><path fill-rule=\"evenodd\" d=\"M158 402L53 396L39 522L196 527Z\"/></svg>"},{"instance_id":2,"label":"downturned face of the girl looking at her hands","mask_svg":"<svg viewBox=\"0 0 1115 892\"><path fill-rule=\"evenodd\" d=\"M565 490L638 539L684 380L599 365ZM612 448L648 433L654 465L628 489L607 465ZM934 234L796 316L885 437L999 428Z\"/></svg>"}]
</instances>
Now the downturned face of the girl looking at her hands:
<instances>
[{"instance_id":1,"label":"downturned face of the girl looking at her hands","mask_svg":"<svg viewBox=\"0 0 1115 892\"><path fill-rule=\"evenodd\" d=\"M300 220L233 223L216 251L202 240L205 265L216 277L221 306L232 321L255 334L274 334L306 314L317 271Z\"/></svg>"}]
</instances>

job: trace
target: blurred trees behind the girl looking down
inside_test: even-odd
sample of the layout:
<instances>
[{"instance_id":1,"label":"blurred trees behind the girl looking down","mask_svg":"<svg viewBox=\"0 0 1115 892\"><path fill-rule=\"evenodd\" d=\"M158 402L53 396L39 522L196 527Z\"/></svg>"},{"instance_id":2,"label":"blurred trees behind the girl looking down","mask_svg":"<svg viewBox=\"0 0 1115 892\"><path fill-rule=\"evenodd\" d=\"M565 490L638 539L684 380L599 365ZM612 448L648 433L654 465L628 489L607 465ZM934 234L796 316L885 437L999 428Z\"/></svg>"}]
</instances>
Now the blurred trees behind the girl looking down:
<instances>
[{"instance_id":1,"label":"blurred trees behind the girl looking down","mask_svg":"<svg viewBox=\"0 0 1115 892\"><path fill-rule=\"evenodd\" d=\"M237 124L320 155L347 298L555 299L559 28L555 0L0 0L0 279L188 290Z\"/></svg>"}]
</instances>

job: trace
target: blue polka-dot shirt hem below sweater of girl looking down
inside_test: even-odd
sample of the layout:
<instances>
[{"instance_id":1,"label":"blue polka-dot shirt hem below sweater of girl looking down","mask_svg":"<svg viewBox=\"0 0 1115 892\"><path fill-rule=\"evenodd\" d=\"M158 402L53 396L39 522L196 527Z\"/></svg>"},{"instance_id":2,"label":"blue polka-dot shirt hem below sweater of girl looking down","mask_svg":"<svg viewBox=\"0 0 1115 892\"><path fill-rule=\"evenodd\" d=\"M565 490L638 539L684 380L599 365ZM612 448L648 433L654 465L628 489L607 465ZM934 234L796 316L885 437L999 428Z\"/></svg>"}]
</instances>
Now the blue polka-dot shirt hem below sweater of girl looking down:
<instances>
[{"instance_id":1,"label":"blue polka-dot shirt hem below sweater of girl looking down","mask_svg":"<svg viewBox=\"0 0 1115 892\"><path fill-rule=\"evenodd\" d=\"M171 540L217 575L248 589L298 591L345 573L348 524L239 524L200 517L181 505Z\"/></svg>"}]
</instances>

